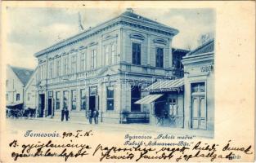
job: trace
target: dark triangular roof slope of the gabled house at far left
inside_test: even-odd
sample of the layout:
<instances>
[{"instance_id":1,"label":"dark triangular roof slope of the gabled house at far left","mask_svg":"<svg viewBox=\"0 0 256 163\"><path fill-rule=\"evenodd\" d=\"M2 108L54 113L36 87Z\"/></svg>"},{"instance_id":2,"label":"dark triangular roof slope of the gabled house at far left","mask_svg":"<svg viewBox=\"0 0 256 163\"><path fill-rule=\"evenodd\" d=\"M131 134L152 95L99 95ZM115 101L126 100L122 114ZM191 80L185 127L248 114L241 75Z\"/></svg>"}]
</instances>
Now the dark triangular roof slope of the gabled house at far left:
<instances>
[{"instance_id":1,"label":"dark triangular roof slope of the gabled house at far left","mask_svg":"<svg viewBox=\"0 0 256 163\"><path fill-rule=\"evenodd\" d=\"M20 79L22 84L25 86L27 82L29 81L29 78L34 72L34 69L29 68L18 68L11 66L11 69L14 73L16 73L16 76Z\"/></svg>"}]
</instances>

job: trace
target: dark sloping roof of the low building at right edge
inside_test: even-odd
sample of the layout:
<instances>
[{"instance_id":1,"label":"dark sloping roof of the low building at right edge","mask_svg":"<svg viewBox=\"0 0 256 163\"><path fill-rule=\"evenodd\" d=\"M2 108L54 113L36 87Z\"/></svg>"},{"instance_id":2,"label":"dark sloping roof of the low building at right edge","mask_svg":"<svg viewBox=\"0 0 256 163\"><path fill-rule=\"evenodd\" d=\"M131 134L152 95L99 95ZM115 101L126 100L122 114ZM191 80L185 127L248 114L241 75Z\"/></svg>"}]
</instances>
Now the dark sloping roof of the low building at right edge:
<instances>
[{"instance_id":1,"label":"dark sloping roof of the low building at right edge","mask_svg":"<svg viewBox=\"0 0 256 163\"><path fill-rule=\"evenodd\" d=\"M205 42L203 45L198 46L195 48L194 51L191 51L186 54L187 55L199 55L204 53L209 53L214 51L214 39L210 40L209 42Z\"/></svg>"}]
</instances>

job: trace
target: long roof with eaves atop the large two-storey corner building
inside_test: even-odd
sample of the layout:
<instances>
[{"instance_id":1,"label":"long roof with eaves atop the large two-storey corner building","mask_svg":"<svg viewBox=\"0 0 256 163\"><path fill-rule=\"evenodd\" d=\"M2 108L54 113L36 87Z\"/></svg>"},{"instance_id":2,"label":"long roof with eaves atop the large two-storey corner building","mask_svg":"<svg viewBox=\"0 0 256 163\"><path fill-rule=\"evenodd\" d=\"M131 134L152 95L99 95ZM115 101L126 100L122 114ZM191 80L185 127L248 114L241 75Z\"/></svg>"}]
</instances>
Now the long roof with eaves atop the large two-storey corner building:
<instances>
[{"instance_id":1,"label":"long roof with eaves atop the large two-storey corner building","mask_svg":"<svg viewBox=\"0 0 256 163\"><path fill-rule=\"evenodd\" d=\"M146 28L149 28L149 29L152 29L152 24L153 24L157 27L157 29L159 31L162 31L164 33L171 33L173 36L178 33L177 29L173 29L173 28L171 28L167 25L160 24L159 22L156 22L154 20L150 20L150 19L148 19L146 17L143 17L141 15L134 14L133 11L124 11L124 13L115 17L114 19L107 20L107 21L105 21L101 24L98 24L97 26L95 26L93 28L84 30L83 32L78 33L78 34L76 34L72 37L68 37L68 38L62 40L61 42L56 42L52 46L49 46L49 47L43 49L42 51L38 51L37 53L34 54L34 56L43 55L45 53L55 51L56 49L59 49L63 46L70 45L74 42L82 41L86 37L89 37L94 33L98 33L102 29L109 28L112 24L118 24L118 22L124 22L124 21L128 21L128 23L130 23L131 21L136 22L136 24L138 26L145 25ZM148 25L146 23L150 23L150 25Z\"/></svg>"}]
</instances>

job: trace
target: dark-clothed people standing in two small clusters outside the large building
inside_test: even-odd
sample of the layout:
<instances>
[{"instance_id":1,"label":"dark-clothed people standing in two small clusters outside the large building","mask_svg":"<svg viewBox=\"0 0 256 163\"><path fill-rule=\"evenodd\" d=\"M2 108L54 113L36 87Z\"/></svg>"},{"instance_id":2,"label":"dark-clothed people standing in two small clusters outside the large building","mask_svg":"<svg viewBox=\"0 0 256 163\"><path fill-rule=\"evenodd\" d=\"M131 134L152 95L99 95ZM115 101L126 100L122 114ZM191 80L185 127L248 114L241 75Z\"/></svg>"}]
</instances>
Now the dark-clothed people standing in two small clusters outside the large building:
<instances>
[{"instance_id":1,"label":"dark-clothed people standing in two small clusters outside the large building","mask_svg":"<svg viewBox=\"0 0 256 163\"><path fill-rule=\"evenodd\" d=\"M69 121L69 118L70 118L70 111L68 110L68 108L63 108L61 110L61 121L64 120L64 117L65 117L65 121ZM99 112L97 110L93 110L92 109L89 109L88 111L88 118L89 118L89 122L90 124L92 124L92 119L94 120L94 123L95 124L98 124L99 123Z\"/></svg>"}]
</instances>

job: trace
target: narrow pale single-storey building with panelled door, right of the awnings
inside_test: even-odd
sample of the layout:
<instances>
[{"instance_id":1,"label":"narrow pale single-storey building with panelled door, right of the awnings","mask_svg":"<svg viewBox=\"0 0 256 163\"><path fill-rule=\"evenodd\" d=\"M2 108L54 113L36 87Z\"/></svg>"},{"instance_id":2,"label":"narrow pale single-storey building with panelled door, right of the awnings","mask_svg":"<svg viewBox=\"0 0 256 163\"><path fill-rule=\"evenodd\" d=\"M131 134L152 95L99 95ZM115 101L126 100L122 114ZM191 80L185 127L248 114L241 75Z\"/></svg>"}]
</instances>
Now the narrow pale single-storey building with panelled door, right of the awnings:
<instances>
[{"instance_id":1,"label":"narrow pale single-storey building with panelled door, right of the awnings","mask_svg":"<svg viewBox=\"0 0 256 163\"><path fill-rule=\"evenodd\" d=\"M184 126L214 130L214 40L205 42L182 59L184 65Z\"/></svg>"}]
</instances>

